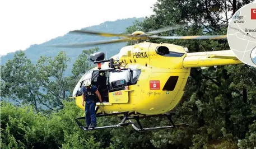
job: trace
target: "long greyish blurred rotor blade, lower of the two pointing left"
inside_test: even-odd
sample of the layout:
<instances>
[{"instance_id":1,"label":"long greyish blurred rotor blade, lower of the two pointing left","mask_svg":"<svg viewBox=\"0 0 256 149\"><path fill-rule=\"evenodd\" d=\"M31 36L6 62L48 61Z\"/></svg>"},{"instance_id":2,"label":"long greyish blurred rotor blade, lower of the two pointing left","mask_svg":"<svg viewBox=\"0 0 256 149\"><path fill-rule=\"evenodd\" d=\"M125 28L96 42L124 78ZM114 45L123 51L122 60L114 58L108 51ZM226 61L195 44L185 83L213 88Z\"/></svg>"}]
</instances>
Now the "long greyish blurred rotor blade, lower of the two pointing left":
<instances>
[{"instance_id":1,"label":"long greyish blurred rotor blade, lower of the two pointing left","mask_svg":"<svg viewBox=\"0 0 256 149\"><path fill-rule=\"evenodd\" d=\"M100 40L100 41L89 41L85 43L56 44L56 45L48 45L48 46L53 46L58 48L83 48L85 46L91 46L91 45L122 43L127 40L128 39L110 39L110 40Z\"/></svg>"}]
</instances>

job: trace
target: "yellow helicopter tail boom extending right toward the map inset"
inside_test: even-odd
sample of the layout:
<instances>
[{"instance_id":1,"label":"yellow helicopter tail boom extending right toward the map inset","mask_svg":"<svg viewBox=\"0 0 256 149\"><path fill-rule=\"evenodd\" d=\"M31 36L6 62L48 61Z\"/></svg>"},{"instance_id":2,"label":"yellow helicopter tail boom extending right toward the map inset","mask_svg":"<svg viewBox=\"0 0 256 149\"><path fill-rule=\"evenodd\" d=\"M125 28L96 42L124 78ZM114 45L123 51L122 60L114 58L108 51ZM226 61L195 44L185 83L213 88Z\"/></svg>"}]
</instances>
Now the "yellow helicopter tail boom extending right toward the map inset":
<instances>
[{"instance_id":1,"label":"yellow helicopter tail boom extending right toward the map inset","mask_svg":"<svg viewBox=\"0 0 256 149\"><path fill-rule=\"evenodd\" d=\"M184 68L211 67L241 63L243 62L236 58L231 50L187 53L183 59Z\"/></svg>"}]
</instances>

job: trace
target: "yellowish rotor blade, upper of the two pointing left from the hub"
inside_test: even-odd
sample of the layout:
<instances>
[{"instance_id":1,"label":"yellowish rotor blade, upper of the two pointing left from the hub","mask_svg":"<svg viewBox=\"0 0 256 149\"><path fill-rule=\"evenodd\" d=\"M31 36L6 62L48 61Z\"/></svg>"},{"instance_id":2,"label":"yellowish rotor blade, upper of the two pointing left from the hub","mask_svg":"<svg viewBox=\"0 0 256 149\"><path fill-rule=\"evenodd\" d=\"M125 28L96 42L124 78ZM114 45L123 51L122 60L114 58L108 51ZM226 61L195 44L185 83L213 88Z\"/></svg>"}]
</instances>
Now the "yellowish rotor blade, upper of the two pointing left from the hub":
<instances>
[{"instance_id":1,"label":"yellowish rotor blade, upper of the two pointing left from the hub","mask_svg":"<svg viewBox=\"0 0 256 149\"><path fill-rule=\"evenodd\" d=\"M99 35L99 36L105 36L105 37L129 37L131 35L129 34L113 34L108 32L98 32L98 31L88 31L88 30L73 30L69 31L69 33L75 33L75 34L90 34L90 35Z\"/></svg>"}]
</instances>

